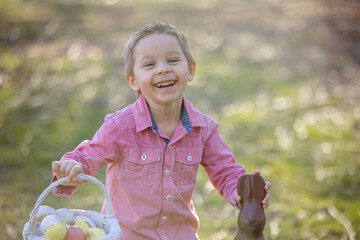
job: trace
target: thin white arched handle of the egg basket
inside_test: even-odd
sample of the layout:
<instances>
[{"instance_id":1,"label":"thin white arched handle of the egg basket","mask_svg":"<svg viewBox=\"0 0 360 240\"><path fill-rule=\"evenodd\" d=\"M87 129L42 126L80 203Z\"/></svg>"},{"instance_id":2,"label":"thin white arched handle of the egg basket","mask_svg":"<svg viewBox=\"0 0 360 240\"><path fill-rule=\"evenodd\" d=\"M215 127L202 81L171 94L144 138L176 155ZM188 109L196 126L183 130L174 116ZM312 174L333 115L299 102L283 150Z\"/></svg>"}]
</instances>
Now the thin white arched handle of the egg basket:
<instances>
[{"instance_id":1,"label":"thin white arched handle of the egg basket","mask_svg":"<svg viewBox=\"0 0 360 240\"><path fill-rule=\"evenodd\" d=\"M102 182L100 182L98 179L96 179L93 176L90 175L86 175L86 174L78 174L76 175L77 177L80 177L81 179L84 180L88 180L89 182L94 183L96 186L98 186L101 191L104 193L105 195L105 199L106 199L106 219L110 219L113 218L113 212L112 212L112 205L111 205L111 198L110 198L110 194L108 192L108 190L106 189L106 187L104 186L104 184ZM39 208L41 206L41 203L44 201L45 197L52 192L52 190L57 187L62 185L63 183L65 183L67 181L68 177L64 177L64 178L60 178L57 181L53 182L50 184L50 186L48 186L39 196L38 200L36 201L35 207L32 210L31 214L30 214L30 220L29 220L29 228L35 229L36 228L36 216L37 213L39 211Z\"/></svg>"}]
</instances>

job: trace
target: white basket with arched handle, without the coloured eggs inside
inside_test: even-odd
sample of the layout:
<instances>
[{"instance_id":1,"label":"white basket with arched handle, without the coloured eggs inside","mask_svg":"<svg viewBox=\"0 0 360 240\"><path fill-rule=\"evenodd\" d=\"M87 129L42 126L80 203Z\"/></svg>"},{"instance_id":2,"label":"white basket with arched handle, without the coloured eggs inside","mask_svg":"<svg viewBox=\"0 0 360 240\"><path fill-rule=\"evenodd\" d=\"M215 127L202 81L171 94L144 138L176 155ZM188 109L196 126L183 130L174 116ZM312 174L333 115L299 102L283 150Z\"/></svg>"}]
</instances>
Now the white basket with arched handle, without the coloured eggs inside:
<instances>
[{"instance_id":1,"label":"white basket with arched handle, without the coloured eggs inside","mask_svg":"<svg viewBox=\"0 0 360 240\"><path fill-rule=\"evenodd\" d=\"M95 211L70 209L73 212L74 216L77 216L77 215L86 216L86 217L90 218L91 220L93 220L97 227L103 229L107 235L99 240L118 240L118 239L120 239L120 237L122 235L122 231L121 231L119 222L113 216L110 194L107 191L104 184L102 184L95 177L92 177L92 176L89 176L86 174L78 174L77 176L84 180L94 183L101 189L101 191L105 195L107 207L106 207L106 215L100 214ZM55 187L65 183L66 180L67 180L67 177L61 178L61 179L53 182L39 196L38 200L36 201L35 207L30 214L30 220L24 226L24 229L23 229L23 239L24 240L41 240L41 239L44 240L45 239L44 236L42 236L42 235L39 236L36 233L36 230L40 224L36 219L37 213L38 213L41 203L44 201L45 197L50 192L52 192L52 190Z\"/></svg>"}]
</instances>

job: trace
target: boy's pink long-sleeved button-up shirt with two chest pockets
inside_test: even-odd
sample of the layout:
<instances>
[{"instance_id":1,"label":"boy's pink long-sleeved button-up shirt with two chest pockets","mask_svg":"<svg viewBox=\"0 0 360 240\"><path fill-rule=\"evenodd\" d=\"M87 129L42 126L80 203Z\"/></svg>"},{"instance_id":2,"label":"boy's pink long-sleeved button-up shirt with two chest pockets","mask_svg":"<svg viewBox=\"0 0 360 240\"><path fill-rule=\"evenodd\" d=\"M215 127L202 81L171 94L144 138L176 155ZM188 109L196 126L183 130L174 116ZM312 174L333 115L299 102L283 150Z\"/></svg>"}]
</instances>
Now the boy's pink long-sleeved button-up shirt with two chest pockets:
<instances>
[{"instance_id":1,"label":"boy's pink long-sleeved button-up shirt with two chest pockets","mask_svg":"<svg viewBox=\"0 0 360 240\"><path fill-rule=\"evenodd\" d=\"M146 100L106 116L91 141L83 141L61 161L80 162L95 176L107 165L106 186L124 240L193 240L199 219L192 202L198 167L232 205L245 168L218 134L218 125L186 98L169 139L152 120ZM55 179L54 179L55 180ZM76 188L60 186L58 195ZM102 213L105 213L105 204Z\"/></svg>"}]
</instances>

